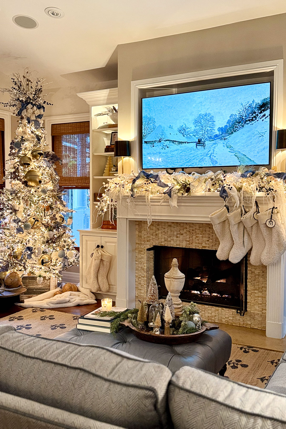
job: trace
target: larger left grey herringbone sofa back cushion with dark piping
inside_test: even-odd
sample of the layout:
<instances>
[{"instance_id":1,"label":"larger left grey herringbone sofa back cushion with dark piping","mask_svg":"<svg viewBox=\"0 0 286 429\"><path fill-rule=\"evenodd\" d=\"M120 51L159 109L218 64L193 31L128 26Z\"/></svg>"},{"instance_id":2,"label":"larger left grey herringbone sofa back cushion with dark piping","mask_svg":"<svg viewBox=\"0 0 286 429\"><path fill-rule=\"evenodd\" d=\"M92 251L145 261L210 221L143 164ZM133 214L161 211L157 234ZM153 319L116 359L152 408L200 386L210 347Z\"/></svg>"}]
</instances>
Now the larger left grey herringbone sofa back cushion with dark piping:
<instances>
[{"instance_id":1,"label":"larger left grey herringbone sofa back cushion with dark piping","mask_svg":"<svg viewBox=\"0 0 286 429\"><path fill-rule=\"evenodd\" d=\"M0 326L3 392L124 428L168 428L171 371L108 347Z\"/></svg>"}]
</instances>

